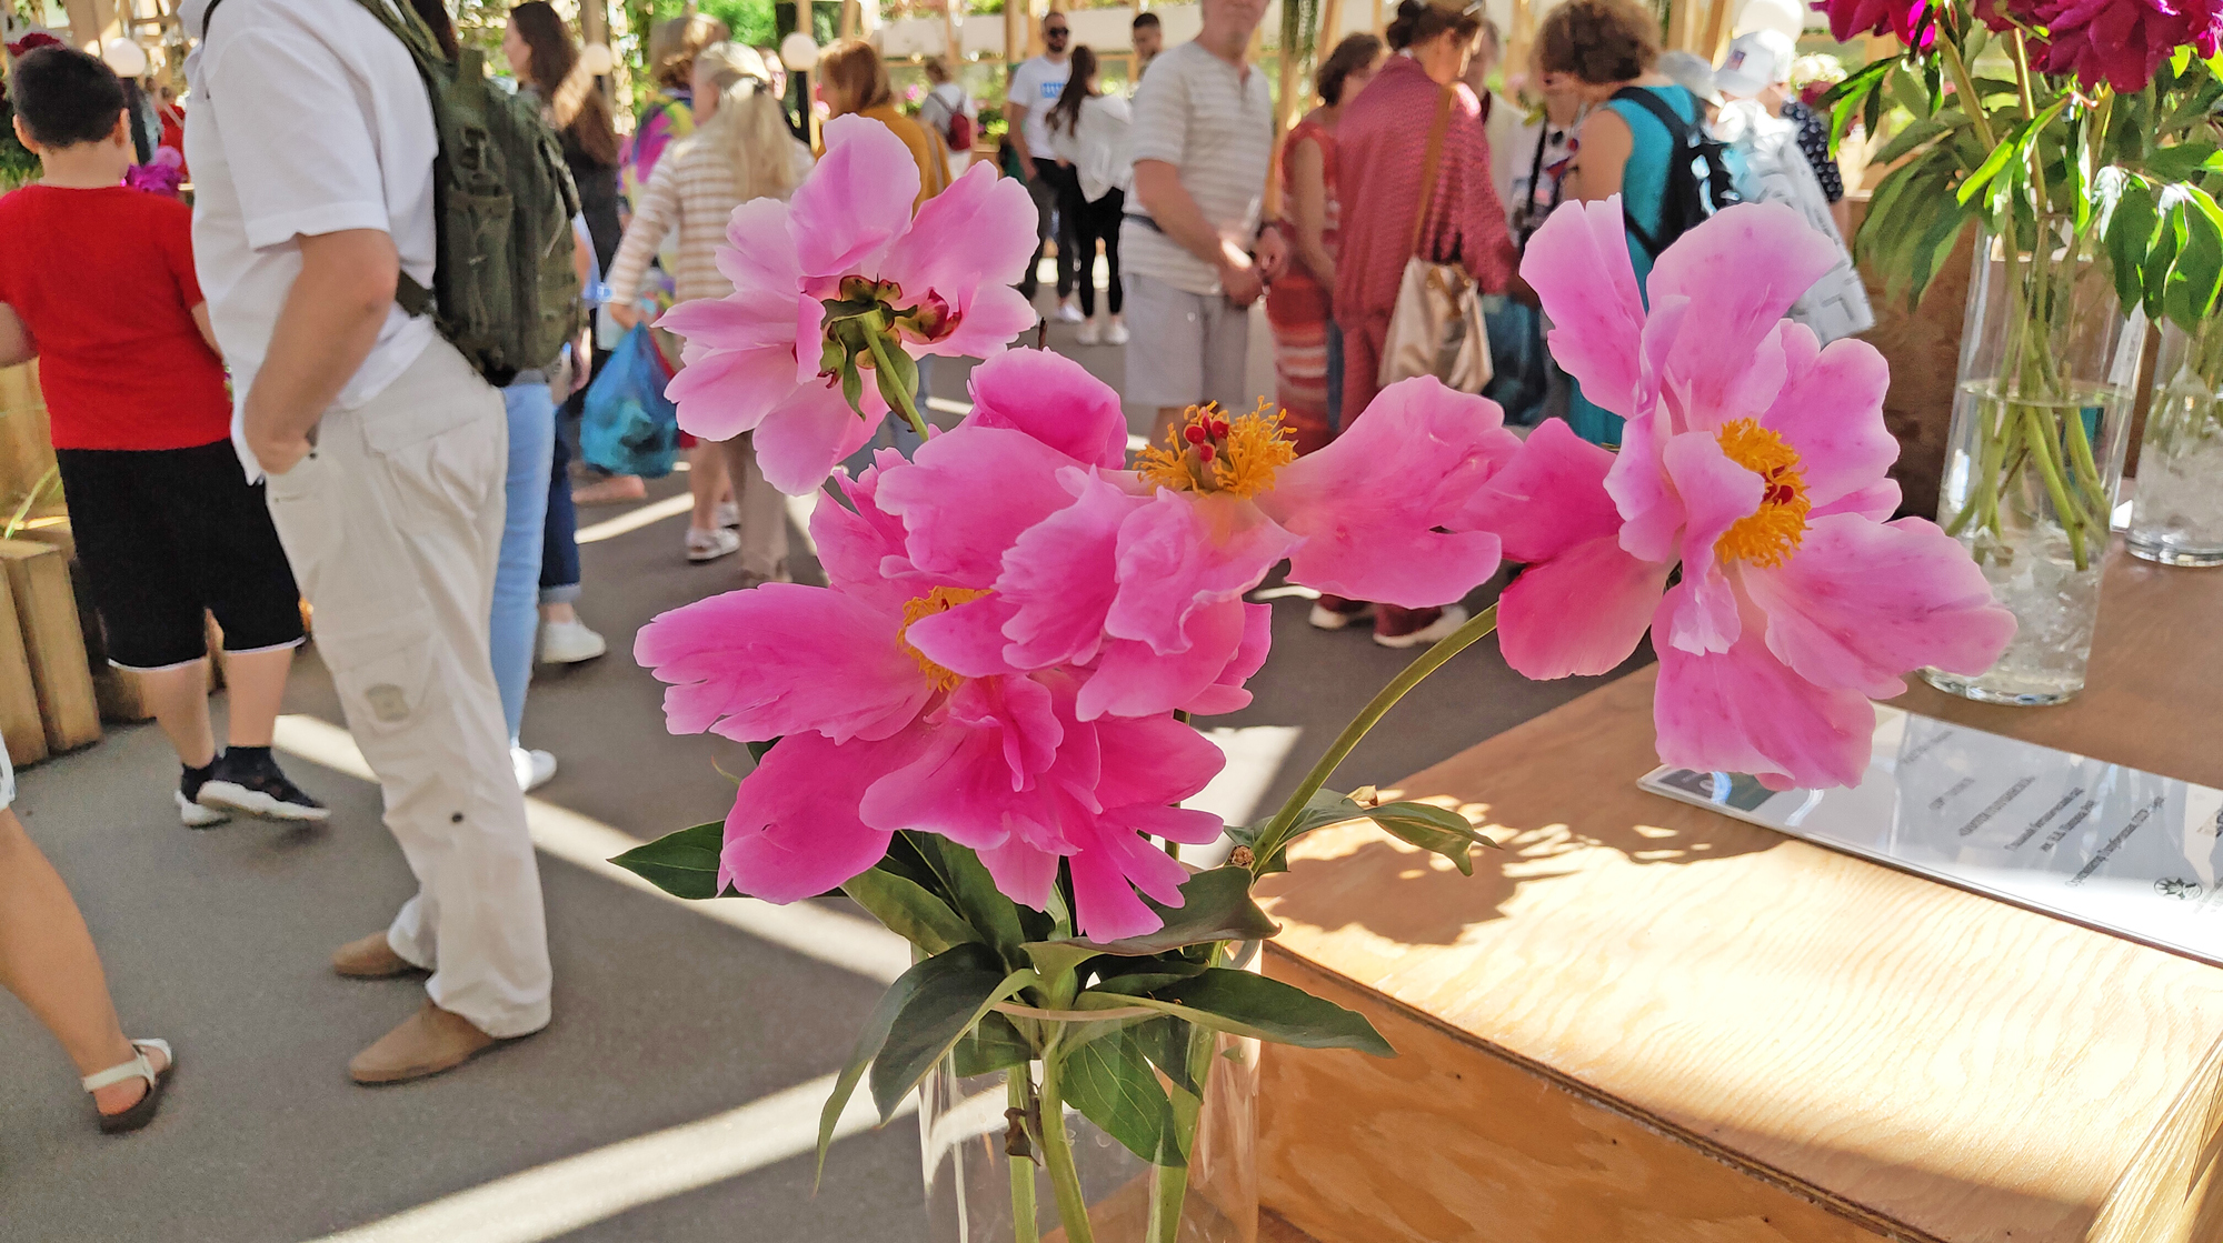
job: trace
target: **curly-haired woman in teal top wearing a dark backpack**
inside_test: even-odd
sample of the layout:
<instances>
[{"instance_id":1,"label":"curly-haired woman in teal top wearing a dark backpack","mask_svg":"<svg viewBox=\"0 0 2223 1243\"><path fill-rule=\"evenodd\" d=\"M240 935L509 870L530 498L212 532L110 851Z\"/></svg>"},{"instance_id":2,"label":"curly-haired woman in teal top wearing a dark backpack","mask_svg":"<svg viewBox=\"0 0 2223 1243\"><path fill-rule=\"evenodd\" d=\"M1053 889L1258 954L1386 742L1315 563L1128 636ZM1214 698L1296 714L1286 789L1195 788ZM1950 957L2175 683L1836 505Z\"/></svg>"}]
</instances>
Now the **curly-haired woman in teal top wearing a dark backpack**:
<instances>
[{"instance_id":1,"label":"curly-haired woman in teal top wearing a dark backpack","mask_svg":"<svg viewBox=\"0 0 2223 1243\"><path fill-rule=\"evenodd\" d=\"M1565 198L1621 195L1638 289L1658 253L1696 224L1678 202L1692 186L1676 186L1687 166L1676 169L1674 155L1705 122L1698 98L1658 73L1658 22L1634 0L1565 0L1536 31L1536 64L1572 75L1583 100L1596 104L1576 133ZM1567 422L1592 444L1621 444L1621 415L1585 397L1581 384L1567 402Z\"/></svg>"}]
</instances>

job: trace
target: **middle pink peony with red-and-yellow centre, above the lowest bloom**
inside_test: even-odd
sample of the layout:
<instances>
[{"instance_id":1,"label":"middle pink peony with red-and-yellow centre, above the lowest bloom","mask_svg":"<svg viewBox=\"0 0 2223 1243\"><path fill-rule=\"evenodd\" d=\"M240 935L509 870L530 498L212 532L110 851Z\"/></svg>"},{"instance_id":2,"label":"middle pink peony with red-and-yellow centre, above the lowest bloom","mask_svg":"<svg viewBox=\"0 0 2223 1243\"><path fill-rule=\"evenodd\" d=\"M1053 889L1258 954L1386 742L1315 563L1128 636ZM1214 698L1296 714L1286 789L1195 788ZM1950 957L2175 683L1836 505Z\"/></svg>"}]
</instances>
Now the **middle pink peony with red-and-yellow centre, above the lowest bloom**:
<instances>
[{"instance_id":1,"label":"middle pink peony with red-and-yellow centre, above the lowest bloom","mask_svg":"<svg viewBox=\"0 0 2223 1243\"><path fill-rule=\"evenodd\" d=\"M1461 522L1518 439L1494 402L1394 384L1327 448L1296 457L1280 415L1192 411L1123 471L1118 395L1078 364L1011 351L974 371L974 413L894 466L883 506L920 566L987 595L923 624L934 661L971 677L1091 673L1083 721L1227 713L1265 661L1289 582L1407 608L1496 573L1498 539Z\"/></svg>"}]
</instances>

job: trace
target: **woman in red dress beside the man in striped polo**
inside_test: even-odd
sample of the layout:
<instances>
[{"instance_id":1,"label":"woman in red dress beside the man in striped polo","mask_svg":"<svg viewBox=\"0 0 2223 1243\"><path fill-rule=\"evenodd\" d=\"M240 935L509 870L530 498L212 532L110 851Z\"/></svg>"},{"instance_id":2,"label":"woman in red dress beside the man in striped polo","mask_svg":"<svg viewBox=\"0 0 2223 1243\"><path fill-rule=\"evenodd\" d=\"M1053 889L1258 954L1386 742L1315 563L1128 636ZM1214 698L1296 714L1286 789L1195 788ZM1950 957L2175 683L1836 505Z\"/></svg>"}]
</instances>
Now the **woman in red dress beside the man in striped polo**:
<instances>
[{"instance_id":1,"label":"woman in red dress beside the man in striped polo","mask_svg":"<svg viewBox=\"0 0 2223 1243\"><path fill-rule=\"evenodd\" d=\"M1347 36L1314 71L1320 107L1305 113L1280 144L1280 229L1289 240L1289 269L1265 291L1274 326L1274 400L1298 453L1336 435L1343 411L1343 337L1336 333L1336 246L1343 204L1336 202L1336 122L1343 107L1374 80L1383 40Z\"/></svg>"}]
</instances>

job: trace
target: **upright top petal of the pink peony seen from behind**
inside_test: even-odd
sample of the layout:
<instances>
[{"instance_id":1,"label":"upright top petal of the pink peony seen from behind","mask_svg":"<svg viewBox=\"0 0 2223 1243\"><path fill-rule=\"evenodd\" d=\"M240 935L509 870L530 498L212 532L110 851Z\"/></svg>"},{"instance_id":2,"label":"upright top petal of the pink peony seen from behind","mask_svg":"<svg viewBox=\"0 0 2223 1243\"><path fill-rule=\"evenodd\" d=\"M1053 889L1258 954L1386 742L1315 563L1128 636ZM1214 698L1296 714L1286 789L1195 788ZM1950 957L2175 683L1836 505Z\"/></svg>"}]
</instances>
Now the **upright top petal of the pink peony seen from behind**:
<instances>
[{"instance_id":1,"label":"upright top petal of the pink peony seen from behind","mask_svg":"<svg viewBox=\"0 0 2223 1243\"><path fill-rule=\"evenodd\" d=\"M805 280L874 275L911 226L918 162L885 124L840 115L825 124L825 155L796 186L787 235Z\"/></svg>"}]
</instances>

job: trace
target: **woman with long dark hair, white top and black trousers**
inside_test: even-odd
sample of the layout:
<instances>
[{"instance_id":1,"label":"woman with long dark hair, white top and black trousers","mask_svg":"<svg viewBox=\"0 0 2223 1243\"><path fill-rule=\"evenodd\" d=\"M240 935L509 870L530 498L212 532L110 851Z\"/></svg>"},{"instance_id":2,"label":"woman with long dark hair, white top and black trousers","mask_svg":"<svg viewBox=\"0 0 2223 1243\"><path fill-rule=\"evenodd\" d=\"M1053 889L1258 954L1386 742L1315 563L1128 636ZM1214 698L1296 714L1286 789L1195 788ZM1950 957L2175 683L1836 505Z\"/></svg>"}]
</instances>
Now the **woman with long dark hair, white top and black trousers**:
<instances>
[{"instance_id":1,"label":"woman with long dark hair, white top and black trousers","mask_svg":"<svg viewBox=\"0 0 2223 1243\"><path fill-rule=\"evenodd\" d=\"M1127 127L1134 113L1123 95L1105 95L1096 80L1096 49L1083 44L1074 49L1074 75L1065 80L1065 93L1049 104L1043 118L1049 127L1049 144L1058 160L1071 164L1080 182L1080 211L1074 233L1080 238L1080 253L1074 255L1074 282L1080 293L1078 342L1127 344L1127 324L1120 322L1118 280L1118 222L1127 215L1127 189L1134 184L1134 160L1127 158ZM1105 320L1096 317L1096 242L1105 246Z\"/></svg>"}]
</instances>

